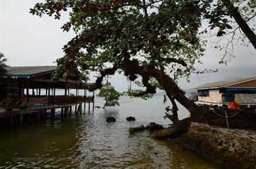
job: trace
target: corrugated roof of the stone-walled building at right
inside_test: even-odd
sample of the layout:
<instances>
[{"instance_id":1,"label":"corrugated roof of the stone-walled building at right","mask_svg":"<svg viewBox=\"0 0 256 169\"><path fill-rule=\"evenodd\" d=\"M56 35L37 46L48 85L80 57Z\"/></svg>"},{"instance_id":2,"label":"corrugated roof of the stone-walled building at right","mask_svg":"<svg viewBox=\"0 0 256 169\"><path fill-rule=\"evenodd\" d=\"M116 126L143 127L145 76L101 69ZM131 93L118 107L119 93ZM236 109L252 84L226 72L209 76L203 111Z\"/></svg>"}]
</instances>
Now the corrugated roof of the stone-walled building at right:
<instances>
[{"instance_id":1,"label":"corrugated roof of the stone-walled building at right","mask_svg":"<svg viewBox=\"0 0 256 169\"><path fill-rule=\"evenodd\" d=\"M244 81L250 81L256 79L256 77L244 77L240 79L226 80L226 81L217 81L214 83L206 83L202 86L198 86L196 89L209 89L209 88L224 88L231 86L234 83L242 83Z\"/></svg>"}]
</instances>

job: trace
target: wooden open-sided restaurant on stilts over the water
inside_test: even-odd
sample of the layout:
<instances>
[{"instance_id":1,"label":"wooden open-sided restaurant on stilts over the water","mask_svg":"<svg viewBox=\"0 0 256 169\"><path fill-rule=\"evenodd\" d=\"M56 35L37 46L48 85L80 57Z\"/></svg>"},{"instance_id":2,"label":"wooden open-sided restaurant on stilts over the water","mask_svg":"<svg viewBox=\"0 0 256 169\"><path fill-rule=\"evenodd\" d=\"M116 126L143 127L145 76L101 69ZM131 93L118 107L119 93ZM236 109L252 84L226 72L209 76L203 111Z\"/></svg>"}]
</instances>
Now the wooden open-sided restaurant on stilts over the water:
<instances>
[{"instance_id":1,"label":"wooden open-sided restaurant on stilts over the water","mask_svg":"<svg viewBox=\"0 0 256 169\"><path fill-rule=\"evenodd\" d=\"M53 80L56 66L1 67L0 66L0 125L23 123L54 118L56 109L66 116L94 110L94 92L87 95L93 83L79 81L79 71L74 70L66 79ZM74 93L75 92L75 93Z\"/></svg>"}]
</instances>

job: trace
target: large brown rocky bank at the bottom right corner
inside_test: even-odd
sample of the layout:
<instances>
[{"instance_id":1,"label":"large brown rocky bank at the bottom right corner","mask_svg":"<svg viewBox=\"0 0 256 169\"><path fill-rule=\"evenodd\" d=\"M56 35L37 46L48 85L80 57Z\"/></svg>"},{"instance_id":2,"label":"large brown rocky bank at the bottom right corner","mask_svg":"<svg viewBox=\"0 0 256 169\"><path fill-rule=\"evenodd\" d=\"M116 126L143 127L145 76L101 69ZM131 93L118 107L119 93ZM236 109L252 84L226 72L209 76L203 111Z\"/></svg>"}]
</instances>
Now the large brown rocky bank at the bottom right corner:
<instances>
[{"instance_id":1,"label":"large brown rocky bank at the bottom right corner","mask_svg":"<svg viewBox=\"0 0 256 169\"><path fill-rule=\"evenodd\" d=\"M192 123L187 133L171 141L227 168L256 169L256 131Z\"/></svg>"}]
</instances>

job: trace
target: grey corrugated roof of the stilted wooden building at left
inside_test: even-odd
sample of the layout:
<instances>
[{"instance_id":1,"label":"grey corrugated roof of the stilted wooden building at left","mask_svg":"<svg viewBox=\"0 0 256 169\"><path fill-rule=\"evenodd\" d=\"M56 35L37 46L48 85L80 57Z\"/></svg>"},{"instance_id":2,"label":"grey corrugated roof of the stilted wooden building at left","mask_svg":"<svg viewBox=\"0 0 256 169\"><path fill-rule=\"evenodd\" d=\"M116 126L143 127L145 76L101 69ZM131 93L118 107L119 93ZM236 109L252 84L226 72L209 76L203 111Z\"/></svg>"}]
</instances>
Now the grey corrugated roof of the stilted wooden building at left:
<instances>
[{"instance_id":1,"label":"grey corrugated roof of the stilted wooden building at left","mask_svg":"<svg viewBox=\"0 0 256 169\"><path fill-rule=\"evenodd\" d=\"M47 73L49 71L55 71L56 66L33 66L33 67L5 67L6 73L1 73L1 76L18 76L18 75L37 75L41 73Z\"/></svg>"}]
</instances>

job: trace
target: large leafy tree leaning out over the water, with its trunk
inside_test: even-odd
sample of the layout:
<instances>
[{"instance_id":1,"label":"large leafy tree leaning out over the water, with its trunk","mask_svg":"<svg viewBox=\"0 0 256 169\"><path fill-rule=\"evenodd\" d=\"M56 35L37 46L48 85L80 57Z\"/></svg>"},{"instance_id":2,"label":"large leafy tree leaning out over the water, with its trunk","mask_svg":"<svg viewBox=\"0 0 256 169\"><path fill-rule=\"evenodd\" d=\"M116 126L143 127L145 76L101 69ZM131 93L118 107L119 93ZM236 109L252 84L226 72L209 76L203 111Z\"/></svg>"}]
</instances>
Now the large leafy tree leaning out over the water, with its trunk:
<instances>
[{"instance_id":1,"label":"large leafy tree leaning out over the water, with its trunk","mask_svg":"<svg viewBox=\"0 0 256 169\"><path fill-rule=\"evenodd\" d=\"M224 7L228 1L217 2L215 5L211 0L47 0L37 3L30 12L60 19L62 11L70 9L70 20L62 29L72 28L77 36L63 48L65 55L58 59L58 75L68 75L70 69L79 67L87 80L88 74L96 71L98 78L89 87L93 91L102 88L107 75L122 72L130 81L140 81L146 88L129 91L137 97L155 94L156 88L163 88L173 105L168 109L171 114L167 114L175 127L168 131L171 136L190 126L189 119L179 121L176 102L188 109L194 121L202 112L177 85L177 79L200 73L194 65L204 55L205 41L200 34L205 31L199 31L202 20L210 20L212 29L219 28L217 36L232 28L228 23L234 13Z\"/></svg>"}]
</instances>

